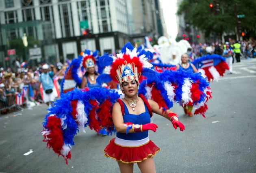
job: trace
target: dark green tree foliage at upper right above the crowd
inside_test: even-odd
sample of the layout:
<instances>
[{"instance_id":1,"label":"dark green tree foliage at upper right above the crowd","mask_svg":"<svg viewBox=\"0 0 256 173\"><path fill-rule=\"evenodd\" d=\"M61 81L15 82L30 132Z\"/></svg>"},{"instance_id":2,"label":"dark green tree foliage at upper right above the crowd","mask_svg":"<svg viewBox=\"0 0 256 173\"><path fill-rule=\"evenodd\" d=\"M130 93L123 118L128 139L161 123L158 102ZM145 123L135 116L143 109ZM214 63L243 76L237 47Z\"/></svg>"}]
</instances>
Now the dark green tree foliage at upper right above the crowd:
<instances>
[{"instance_id":1,"label":"dark green tree foliage at upper right above the crowd","mask_svg":"<svg viewBox=\"0 0 256 173\"><path fill-rule=\"evenodd\" d=\"M184 14L186 24L205 33L205 36L214 33L221 37L223 32L234 33L236 15L245 15L239 18L243 32L255 36L256 31L256 1L255 0L215 0L219 4L219 13L210 8L213 0L183 0L178 7L177 14ZM237 5L236 5L237 4ZM214 4L213 4L214 5Z\"/></svg>"}]
</instances>

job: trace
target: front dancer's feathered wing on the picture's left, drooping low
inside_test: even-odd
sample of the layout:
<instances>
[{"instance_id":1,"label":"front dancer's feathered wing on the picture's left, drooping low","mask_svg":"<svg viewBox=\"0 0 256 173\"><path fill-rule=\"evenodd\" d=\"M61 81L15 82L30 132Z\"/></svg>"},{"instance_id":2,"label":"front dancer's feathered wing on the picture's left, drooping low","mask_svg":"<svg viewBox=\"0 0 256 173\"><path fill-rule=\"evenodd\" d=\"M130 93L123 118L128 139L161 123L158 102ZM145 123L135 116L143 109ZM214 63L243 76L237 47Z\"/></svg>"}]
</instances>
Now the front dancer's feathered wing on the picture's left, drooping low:
<instances>
[{"instance_id":1,"label":"front dancer's feathered wing on the picture's left, drooping low","mask_svg":"<svg viewBox=\"0 0 256 173\"><path fill-rule=\"evenodd\" d=\"M108 134L115 133L112 121L112 107L120 95L115 90L93 88L85 90L74 89L61 95L43 122L43 141L47 147L66 161L71 158L71 148L74 145L74 136L79 128L99 132L105 127Z\"/></svg>"}]
</instances>

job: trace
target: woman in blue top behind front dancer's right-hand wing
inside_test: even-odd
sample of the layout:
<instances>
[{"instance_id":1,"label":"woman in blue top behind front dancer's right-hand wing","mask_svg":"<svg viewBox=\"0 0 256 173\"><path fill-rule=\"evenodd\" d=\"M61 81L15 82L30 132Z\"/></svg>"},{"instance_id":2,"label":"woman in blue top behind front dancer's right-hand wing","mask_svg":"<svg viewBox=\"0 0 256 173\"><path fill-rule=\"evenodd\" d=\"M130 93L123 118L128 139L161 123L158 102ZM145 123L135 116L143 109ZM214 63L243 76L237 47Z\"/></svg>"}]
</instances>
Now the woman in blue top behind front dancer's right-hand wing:
<instances>
[{"instance_id":1,"label":"woman in blue top behind front dancer's right-hand wing","mask_svg":"<svg viewBox=\"0 0 256 173\"><path fill-rule=\"evenodd\" d=\"M177 65L177 69L181 69L183 71L189 71L189 72L198 72L195 65L193 65L192 63L189 63L189 57L187 54L183 54L181 56L181 64ZM189 115L189 117L192 117L192 109L193 109L193 103L189 102L187 105L183 105L182 107L184 109L185 114Z\"/></svg>"}]
</instances>

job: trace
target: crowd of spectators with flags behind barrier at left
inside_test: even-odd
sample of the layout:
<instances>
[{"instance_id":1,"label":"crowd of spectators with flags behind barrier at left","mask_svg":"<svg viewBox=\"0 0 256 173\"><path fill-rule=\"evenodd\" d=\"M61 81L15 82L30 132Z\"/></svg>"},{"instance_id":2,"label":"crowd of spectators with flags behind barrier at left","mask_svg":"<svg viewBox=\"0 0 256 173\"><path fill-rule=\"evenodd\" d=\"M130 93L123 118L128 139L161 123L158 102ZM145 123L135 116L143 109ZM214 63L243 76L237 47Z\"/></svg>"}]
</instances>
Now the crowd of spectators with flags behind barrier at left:
<instances>
[{"instance_id":1,"label":"crowd of spectators with flags behind barrier at left","mask_svg":"<svg viewBox=\"0 0 256 173\"><path fill-rule=\"evenodd\" d=\"M43 102L41 92L39 91L40 82L38 81L43 65L41 64L39 67L28 67L26 62L20 63L19 58L17 58L13 69L0 67L0 111L2 114L15 111L17 94L24 94L24 86L28 86L30 91L23 97L23 103L20 106L26 107L27 101L35 102L35 104L41 104ZM57 63L56 65L48 65L50 67L56 67L57 73L54 77L59 77L58 84L60 89L61 81L68 64ZM33 97L31 97L32 95Z\"/></svg>"}]
</instances>

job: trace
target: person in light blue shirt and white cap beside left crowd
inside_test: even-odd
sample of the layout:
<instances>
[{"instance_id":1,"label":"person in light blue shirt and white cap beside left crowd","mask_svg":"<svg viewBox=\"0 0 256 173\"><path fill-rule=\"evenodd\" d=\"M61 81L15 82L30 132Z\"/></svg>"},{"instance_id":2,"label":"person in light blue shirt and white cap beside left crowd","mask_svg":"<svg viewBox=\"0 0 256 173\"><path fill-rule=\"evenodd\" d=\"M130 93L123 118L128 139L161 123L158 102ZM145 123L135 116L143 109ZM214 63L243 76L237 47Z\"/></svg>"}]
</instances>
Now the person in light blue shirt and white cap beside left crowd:
<instances>
[{"instance_id":1,"label":"person in light blue shirt and white cap beside left crowd","mask_svg":"<svg viewBox=\"0 0 256 173\"><path fill-rule=\"evenodd\" d=\"M56 68L54 67L54 65L51 65L51 67L53 71L48 71L49 65L44 64L42 67L43 71L38 80L39 91L41 83L43 85L43 102L45 102L49 107L52 106L52 102L55 100L55 97L57 96L56 89L54 88L54 83L52 79L54 74L56 74Z\"/></svg>"}]
</instances>

